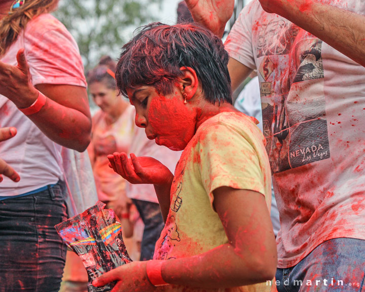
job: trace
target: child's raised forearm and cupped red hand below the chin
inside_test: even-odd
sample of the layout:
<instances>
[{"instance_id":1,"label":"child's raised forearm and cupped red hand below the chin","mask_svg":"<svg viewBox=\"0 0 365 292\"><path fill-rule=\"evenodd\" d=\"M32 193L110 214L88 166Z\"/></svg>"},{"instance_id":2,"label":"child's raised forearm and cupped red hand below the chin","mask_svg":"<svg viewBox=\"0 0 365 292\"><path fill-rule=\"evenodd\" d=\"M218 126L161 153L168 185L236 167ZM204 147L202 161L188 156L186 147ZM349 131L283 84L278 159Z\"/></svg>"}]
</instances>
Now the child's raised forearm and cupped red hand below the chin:
<instances>
[{"instance_id":1,"label":"child's raised forearm and cupped red hand below the chin","mask_svg":"<svg viewBox=\"0 0 365 292\"><path fill-rule=\"evenodd\" d=\"M152 184L155 187L164 222L170 208L170 190L173 180L171 171L152 157L136 157L133 153L128 159L125 153L108 155L109 167L123 176L131 184Z\"/></svg>"}]
</instances>

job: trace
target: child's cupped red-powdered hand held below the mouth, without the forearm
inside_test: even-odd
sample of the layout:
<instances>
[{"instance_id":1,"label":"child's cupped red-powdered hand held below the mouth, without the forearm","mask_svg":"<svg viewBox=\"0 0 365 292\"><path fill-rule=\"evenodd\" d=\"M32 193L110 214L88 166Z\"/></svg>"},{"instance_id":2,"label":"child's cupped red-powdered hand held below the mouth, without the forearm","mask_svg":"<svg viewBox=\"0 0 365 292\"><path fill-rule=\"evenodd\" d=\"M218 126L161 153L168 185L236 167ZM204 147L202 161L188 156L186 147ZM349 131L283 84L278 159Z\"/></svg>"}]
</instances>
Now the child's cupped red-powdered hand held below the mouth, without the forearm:
<instances>
[{"instance_id":1,"label":"child's cupped red-powdered hand held below the mouth, without the forearm","mask_svg":"<svg viewBox=\"0 0 365 292\"><path fill-rule=\"evenodd\" d=\"M123 176L131 184L170 184L173 179L171 171L160 161L152 157L136 157L133 153L128 158L124 152L115 152L107 156L109 167Z\"/></svg>"}]
</instances>

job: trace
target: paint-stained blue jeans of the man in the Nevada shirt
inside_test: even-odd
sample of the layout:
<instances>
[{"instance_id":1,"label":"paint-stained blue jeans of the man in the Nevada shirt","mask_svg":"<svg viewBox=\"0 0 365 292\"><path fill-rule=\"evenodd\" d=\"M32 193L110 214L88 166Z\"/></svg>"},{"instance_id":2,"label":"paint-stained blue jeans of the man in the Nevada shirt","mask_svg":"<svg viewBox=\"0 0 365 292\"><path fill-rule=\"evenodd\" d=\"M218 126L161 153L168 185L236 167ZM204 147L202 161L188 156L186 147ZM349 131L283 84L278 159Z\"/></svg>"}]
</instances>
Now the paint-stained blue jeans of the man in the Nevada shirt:
<instances>
[{"instance_id":1,"label":"paint-stained blue jeans of the man in the Nevada shirt","mask_svg":"<svg viewBox=\"0 0 365 292\"><path fill-rule=\"evenodd\" d=\"M365 240L323 242L296 266L277 269L278 292L365 291Z\"/></svg>"}]
</instances>

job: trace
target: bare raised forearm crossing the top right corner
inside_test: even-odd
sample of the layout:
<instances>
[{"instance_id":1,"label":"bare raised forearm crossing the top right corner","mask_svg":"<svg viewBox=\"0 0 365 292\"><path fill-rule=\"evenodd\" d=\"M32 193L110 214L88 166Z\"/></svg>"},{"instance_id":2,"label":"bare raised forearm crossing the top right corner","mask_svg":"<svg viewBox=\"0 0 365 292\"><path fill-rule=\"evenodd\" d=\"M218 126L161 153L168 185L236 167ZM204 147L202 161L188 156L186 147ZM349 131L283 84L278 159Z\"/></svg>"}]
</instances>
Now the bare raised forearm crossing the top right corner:
<instances>
[{"instance_id":1,"label":"bare raised forearm crossing the top right corner","mask_svg":"<svg viewBox=\"0 0 365 292\"><path fill-rule=\"evenodd\" d=\"M318 0L259 1L266 12L281 15L365 66L365 15Z\"/></svg>"}]
</instances>

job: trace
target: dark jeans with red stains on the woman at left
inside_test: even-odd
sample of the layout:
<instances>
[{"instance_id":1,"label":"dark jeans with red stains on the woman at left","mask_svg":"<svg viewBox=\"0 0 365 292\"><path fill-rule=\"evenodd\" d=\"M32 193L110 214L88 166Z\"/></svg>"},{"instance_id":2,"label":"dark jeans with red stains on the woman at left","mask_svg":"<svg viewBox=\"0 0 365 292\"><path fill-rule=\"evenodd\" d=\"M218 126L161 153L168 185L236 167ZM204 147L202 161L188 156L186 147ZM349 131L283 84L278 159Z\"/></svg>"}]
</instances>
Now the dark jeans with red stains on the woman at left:
<instances>
[{"instance_id":1,"label":"dark jeans with red stains on the woman at left","mask_svg":"<svg viewBox=\"0 0 365 292\"><path fill-rule=\"evenodd\" d=\"M0 201L0 291L57 292L66 257L54 226L67 218L60 182Z\"/></svg>"}]
</instances>

